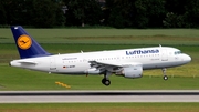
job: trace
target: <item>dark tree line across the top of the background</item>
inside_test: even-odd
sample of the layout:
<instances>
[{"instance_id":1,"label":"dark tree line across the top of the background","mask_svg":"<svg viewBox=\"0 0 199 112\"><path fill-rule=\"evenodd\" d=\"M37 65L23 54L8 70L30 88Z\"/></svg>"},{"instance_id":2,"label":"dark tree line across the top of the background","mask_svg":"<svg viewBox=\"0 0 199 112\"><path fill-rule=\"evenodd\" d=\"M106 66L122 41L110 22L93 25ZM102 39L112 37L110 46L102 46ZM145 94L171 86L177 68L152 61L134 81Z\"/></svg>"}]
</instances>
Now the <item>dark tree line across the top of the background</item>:
<instances>
[{"instance_id":1,"label":"dark tree line across the top of the background","mask_svg":"<svg viewBox=\"0 0 199 112\"><path fill-rule=\"evenodd\" d=\"M198 28L199 0L1 0L0 26Z\"/></svg>"}]
</instances>

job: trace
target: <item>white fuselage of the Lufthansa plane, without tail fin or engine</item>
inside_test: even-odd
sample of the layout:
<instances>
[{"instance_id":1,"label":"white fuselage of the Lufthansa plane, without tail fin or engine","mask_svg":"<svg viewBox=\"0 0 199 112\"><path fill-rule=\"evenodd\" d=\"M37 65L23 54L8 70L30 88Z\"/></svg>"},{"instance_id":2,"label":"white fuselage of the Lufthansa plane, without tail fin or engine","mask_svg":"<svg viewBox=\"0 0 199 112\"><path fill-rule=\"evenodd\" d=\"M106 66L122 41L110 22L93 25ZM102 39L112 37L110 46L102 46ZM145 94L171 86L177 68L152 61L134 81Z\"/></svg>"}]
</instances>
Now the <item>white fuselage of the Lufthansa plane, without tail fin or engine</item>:
<instances>
[{"instance_id":1,"label":"white fuselage of the Lufthansa plane, without tail fin or engine","mask_svg":"<svg viewBox=\"0 0 199 112\"><path fill-rule=\"evenodd\" d=\"M146 70L178 67L190 62L190 60L189 55L180 53L178 49L154 47L20 59L11 61L10 65L52 73L85 74L91 69L90 61L118 67L140 63Z\"/></svg>"}]
</instances>

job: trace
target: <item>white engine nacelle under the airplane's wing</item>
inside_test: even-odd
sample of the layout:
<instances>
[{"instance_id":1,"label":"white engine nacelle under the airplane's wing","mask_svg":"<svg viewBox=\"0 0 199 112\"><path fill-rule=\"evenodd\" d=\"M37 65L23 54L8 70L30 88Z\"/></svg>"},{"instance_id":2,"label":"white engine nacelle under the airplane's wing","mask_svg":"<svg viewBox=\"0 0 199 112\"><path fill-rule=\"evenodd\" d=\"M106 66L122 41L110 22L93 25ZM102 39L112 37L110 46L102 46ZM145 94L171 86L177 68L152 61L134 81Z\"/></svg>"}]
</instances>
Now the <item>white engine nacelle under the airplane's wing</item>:
<instances>
[{"instance_id":1,"label":"white engine nacelle under the airplane's wing","mask_svg":"<svg viewBox=\"0 0 199 112\"><path fill-rule=\"evenodd\" d=\"M116 74L123 74L125 78L140 78L143 77L143 67L142 65L133 65L133 67L125 67L122 69L121 72Z\"/></svg>"}]
</instances>

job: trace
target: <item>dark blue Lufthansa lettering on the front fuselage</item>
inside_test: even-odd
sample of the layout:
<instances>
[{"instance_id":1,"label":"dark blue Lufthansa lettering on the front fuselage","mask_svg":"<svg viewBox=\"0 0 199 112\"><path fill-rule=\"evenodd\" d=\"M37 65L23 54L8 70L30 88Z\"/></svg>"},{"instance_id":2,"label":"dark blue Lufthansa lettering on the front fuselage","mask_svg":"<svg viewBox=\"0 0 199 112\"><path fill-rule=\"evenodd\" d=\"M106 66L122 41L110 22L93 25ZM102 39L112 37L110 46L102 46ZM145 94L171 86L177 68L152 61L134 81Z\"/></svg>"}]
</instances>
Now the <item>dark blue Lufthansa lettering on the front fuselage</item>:
<instances>
[{"instance_id":1,"label":"dark blue Lufthansa lettering on the front fuselage","mask_svg":"<svg viewBox=\"0 0 199 112\"><path fill-rule=\"evenodd\" d=\"M147 53L159 53L159 50L134 50L134 51L126 51L126 55L147 54Z\"/></svg>"}]
</instances>

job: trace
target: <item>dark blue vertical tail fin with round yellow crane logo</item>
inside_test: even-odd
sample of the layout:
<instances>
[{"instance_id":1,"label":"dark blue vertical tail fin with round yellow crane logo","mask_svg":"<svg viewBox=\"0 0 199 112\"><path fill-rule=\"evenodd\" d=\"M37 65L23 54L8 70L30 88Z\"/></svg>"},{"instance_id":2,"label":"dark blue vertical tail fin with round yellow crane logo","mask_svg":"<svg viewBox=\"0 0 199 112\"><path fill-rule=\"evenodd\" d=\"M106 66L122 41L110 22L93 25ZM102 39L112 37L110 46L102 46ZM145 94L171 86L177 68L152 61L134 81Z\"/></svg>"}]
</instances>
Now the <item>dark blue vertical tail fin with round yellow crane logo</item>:
<instances>
[{"instance_id":1,"label":"dark blue vertical tail fin with round yellow crane logo","mask_svg":"<svg viewBox=\"0 0 199 112\"><path fill-rule=\"evenodd\" d=\"M21 26L11 27L21 59L51 55Z\"/></svg>"}]
</instances>

